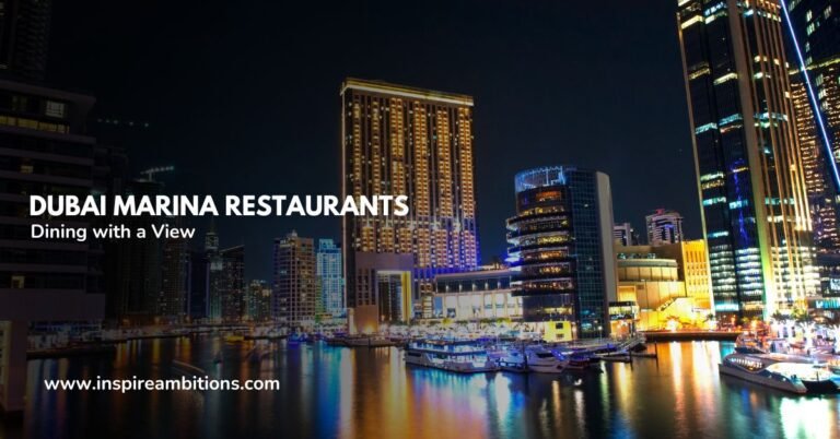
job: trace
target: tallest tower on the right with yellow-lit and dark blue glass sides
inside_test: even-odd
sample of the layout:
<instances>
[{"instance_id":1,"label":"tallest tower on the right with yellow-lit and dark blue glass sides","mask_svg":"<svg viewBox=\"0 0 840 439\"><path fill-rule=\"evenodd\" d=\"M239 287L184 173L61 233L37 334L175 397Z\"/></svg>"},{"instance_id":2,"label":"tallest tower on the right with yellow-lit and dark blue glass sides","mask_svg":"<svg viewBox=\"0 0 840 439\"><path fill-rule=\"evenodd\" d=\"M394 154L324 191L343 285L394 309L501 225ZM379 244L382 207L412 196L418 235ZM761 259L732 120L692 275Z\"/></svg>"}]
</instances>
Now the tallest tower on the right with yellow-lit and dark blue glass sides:
<instances>
[{"instance_id":1,"label":"tallest tower on the right with yellow-lit and dark blue glass sides","mask_svg":"<svg viewBox=\"0 0 840 439\"><path fill-rule=\"evenodd\" d=\"M769 317L816 289L775 0L680 0L678 31L714 309Z\"/></svg>"}]
</instances>

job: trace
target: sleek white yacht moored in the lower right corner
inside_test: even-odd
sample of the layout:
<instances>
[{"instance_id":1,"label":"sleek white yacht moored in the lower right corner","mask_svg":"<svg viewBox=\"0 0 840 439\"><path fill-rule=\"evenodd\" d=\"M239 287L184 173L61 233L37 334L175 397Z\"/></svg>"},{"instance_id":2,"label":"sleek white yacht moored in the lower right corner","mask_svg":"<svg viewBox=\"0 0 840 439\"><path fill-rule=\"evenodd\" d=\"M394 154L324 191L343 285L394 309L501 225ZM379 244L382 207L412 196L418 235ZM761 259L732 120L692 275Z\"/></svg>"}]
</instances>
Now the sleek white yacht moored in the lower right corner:
<instances>
[{"instance_id":1,"label":"sleek white yacht moored in the lower right corner","mask_svg":"<svg viewBox=\"0 0 840 439\"><path fill-rule=\"evenodd\" d=\"M840 378L822 364L789 354L769 354L752 347L736 347L723 358L720 373L792 393L835 393Z\"/></svg>"}]
</instances>

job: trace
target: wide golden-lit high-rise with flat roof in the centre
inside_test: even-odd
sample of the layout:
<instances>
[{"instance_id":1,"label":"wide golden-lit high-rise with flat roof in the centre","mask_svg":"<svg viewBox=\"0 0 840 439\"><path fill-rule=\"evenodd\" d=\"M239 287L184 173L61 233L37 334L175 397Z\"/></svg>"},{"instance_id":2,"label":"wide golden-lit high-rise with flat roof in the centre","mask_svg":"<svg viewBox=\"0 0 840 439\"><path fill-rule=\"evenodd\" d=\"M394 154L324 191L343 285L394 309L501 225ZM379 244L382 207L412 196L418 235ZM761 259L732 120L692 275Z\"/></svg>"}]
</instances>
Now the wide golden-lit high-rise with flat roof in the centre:
<instances>
[{"instance_id":1,"label":"wide golden-lit high-rise with flat roof in the centre","mask_svg":"<svg viewBox=\"0 0 840 439\"><path fill-rule=\"evenodd\" d=\"M343 195L408 195L410 202L407 216L343 217L350 320L355 308L378 306L377 295L360 287L357 253L412 256L413 299L422 297L418 313L430 316L435 274L478 265L472 98L348 79L341 147Z\"/></svg>"}]
</instances>

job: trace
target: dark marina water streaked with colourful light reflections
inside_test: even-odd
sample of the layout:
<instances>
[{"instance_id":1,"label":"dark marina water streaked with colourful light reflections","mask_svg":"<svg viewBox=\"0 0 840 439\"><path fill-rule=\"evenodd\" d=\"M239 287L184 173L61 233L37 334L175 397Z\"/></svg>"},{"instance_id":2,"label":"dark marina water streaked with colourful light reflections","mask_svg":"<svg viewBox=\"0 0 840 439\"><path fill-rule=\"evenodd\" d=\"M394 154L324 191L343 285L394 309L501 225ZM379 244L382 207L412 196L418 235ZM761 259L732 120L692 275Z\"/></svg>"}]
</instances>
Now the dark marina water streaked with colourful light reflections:
<instances>
[{"instance_id":1,"label":"dark marina water streaked with colourful light reflections","mask_svg":"<svg viewBox=\"0 0 840 439\"><path fill-rule=\"evenodd\" d=\"M830 438L837 395L795 396L718 375L731 344L660 344L658 360L605 372L457 375L406 367L401 353L213 337L138 341L113 358L30 361L21 426L0 439L232 438ZM214 359L222 358L221 363ZM277 392L44 392L43 379L164 378L174 360L212 378L278 379Z\"/></svg>"}]
</instances>

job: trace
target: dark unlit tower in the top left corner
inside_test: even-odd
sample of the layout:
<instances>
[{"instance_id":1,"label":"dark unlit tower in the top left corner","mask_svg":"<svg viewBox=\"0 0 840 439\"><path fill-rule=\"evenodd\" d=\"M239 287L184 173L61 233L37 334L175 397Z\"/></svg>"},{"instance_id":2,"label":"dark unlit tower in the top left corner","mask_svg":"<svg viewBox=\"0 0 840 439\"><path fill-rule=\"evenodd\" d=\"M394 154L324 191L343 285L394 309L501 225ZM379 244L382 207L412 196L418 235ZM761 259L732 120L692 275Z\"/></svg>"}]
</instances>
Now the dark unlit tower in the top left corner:
<instances>
[{"instance_id":1,"label":"dark unlit tower in the top left corner","mask_svg":"<svg viewBox=\"0 0 840 439\"><path fill-rule=\"evenodd\" d=\"M51 15L51 0L0 0L0 74L44 79Z\"/></svg>"}]
</instances>

